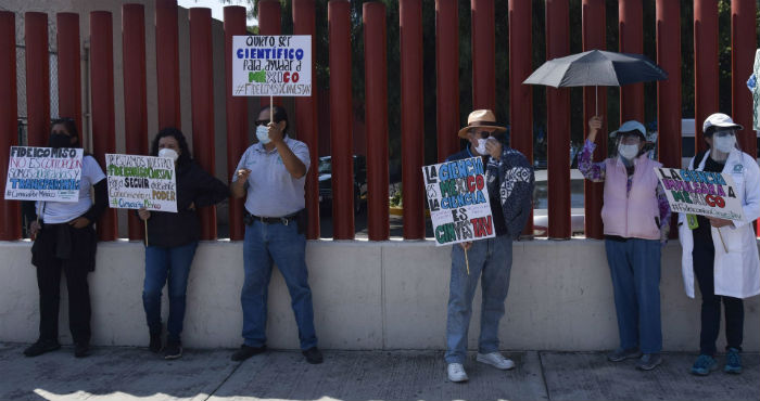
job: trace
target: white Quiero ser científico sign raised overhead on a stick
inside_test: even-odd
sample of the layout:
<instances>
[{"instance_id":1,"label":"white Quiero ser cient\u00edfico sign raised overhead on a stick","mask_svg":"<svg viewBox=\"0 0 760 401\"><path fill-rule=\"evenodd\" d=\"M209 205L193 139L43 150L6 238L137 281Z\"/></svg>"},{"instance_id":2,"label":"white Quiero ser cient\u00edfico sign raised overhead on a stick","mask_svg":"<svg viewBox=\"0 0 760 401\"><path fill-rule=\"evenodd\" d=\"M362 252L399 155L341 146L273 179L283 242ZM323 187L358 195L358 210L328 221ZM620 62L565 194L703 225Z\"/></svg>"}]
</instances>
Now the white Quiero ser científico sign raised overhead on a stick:
<instances>
[{"instance_id":1,"label":"white Quiero ser cient\u00edfico sign raised overhead on a stick","mask_svg":"<svg viewBox=\"0 0 760 401\"><path fill-rule=\"evenodd\" d=\"M232 95L311 96L309 35L232 37Z\"/></svg>"}]
</instances>

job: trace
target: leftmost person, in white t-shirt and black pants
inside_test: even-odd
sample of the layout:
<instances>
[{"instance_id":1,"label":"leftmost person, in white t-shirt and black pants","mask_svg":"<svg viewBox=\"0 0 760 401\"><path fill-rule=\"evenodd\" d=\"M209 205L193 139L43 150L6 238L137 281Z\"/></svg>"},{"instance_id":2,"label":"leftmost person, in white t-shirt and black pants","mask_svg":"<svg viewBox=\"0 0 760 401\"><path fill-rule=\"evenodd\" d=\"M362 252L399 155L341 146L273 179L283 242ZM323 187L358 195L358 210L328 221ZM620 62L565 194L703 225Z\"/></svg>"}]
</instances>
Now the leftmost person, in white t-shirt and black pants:
<instances>
[{"instance_id":1,"label":"leftmost person, in white t-shirt and black pants","mask_svg":"<svg viewBox=\"0 0 760 401\"><path fill-rule=\"evenodd\" d=\"M76 124L71 118L53 121L48 146L81 147ZM94 190L94 200L90 195ZM61 271L68 289L68 327L74 339L74 355L90 352L90 289L87 275L94 270L98 234L92 224L109 205L106 180L98 161L89 154L81 159L79 198L76 203L37 202L29 234L31 264L37 268L39 287L39 339L24 350L37 357L61 348L58 337Z\"/></svg>"}]
</instances>

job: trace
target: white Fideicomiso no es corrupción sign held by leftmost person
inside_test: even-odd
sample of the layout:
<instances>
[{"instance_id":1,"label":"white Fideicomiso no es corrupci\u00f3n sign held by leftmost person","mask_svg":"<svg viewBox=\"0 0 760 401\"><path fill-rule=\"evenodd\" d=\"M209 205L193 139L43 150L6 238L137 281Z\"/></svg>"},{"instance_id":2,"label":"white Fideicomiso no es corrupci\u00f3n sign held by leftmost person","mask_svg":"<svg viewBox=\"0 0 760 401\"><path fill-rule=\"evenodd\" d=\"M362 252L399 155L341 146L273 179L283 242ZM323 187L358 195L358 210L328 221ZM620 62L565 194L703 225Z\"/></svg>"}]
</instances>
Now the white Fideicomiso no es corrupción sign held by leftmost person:
<instances>
[{"instance_id":1,"label":"white Fideicomiso no es corrupci\u00f3n sign held by leftmost person","mask_svg":"<svg viewBox=\"0 0 760 401\"><path fill-rule=\"evenodd\" d=\"M5 199L79 200L81 148L11 146Z\"/></svg>"}]
</instances>

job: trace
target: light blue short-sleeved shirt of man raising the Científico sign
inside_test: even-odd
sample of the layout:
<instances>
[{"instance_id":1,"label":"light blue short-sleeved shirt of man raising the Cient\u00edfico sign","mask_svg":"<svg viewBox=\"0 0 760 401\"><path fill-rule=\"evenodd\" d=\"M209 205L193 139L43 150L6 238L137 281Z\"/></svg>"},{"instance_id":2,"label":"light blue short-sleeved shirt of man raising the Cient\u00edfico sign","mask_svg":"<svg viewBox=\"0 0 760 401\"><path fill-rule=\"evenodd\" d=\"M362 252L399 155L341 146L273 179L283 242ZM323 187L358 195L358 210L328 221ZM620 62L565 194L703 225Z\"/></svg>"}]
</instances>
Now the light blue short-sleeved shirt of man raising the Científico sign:
<instances>
[{"instance_id":1,"label":"light blue short-sleeved shirt of man raising the Cient\u00edfico sign","mask_svg":"<svg viewBox=\"0 0 760 401\"><path fill-rule=\"evenodd\" d=\"M290 139L290 137L286 137L284 142L308 171L311 161L308 146L301 141ZM240 158L236 170L242 168L251 170L251 174L248 177L248 195L245 196L245 209L251 215L283 217L293 215L305 207L306 174L299 179L293 178L284 167L276 148L267 152L261 142L249 146ZM236 174L232 181L237 181L237 179Z\"/></svg>"}]
</instances>

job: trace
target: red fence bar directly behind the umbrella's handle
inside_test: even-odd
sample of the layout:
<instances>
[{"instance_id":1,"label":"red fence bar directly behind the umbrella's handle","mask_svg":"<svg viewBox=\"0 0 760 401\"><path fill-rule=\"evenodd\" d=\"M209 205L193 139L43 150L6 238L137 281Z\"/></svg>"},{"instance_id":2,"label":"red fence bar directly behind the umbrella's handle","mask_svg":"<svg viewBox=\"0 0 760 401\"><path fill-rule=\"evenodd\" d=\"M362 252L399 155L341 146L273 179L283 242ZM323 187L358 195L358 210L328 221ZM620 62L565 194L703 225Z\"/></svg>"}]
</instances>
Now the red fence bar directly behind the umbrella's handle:
<instances>
[{"instance_id":1,"label":"red fence bar directly behind the umbrella's handle","mask_svg":"<svg viewBox=\"0 0 760 401\"><path fill-rule=\"evenodd\" d=\"M607 49L607 23L604 0L583 0L583 51ZM597 98L598 94L598 98ZM598 105L598 112L597 112ZM607 157L607 87L583 88L583 137L588 135L588 119L599 114L604 120L603 128L596 135L596 151L594 161L601 161ZM585 203L585 234L588 238L604 238L601 224L604 183L584 181Z\"/></svg>"}]
</instances>

